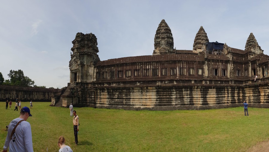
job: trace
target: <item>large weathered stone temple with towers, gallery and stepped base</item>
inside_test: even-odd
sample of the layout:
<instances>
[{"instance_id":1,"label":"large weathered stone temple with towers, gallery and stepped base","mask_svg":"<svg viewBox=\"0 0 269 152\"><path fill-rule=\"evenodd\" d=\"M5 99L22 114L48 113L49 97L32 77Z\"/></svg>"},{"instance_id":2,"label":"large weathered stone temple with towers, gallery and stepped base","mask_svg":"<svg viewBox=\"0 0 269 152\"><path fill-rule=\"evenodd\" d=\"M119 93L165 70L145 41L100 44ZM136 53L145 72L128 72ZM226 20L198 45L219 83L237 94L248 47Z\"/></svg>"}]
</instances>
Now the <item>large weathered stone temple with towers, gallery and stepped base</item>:
<instances>
[{"instance_id":1,"label":"large weathered stone temple with towers, gallery and stepped base","mask_svg":"<svg viewBox=\"0 0 269 152\"><path fill-rule=\"evenodd\" d=\"M174 48L163 19L152 55L100 61L94 34L77 33L72 41L70 83L51 106L113 109L212 109L243 106L269 108L269 56L253 33L245 49L210 42L201 26L192 50ZM258 79L254 81L255 75Z\"/></svg>"}]
</instances>

